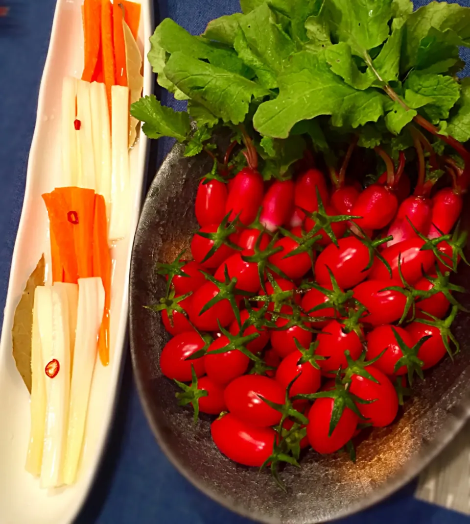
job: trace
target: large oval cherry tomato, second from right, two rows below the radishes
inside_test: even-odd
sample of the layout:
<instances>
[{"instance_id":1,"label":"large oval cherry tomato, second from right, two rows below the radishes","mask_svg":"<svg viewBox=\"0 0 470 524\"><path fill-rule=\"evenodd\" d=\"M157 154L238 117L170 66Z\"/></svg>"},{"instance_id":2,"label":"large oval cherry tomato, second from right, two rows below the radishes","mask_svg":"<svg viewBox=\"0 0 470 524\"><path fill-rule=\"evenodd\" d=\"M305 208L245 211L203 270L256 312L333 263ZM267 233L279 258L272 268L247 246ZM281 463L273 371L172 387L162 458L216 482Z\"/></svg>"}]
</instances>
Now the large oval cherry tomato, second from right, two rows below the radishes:
<instances>
[{"instance_id":1,"label":"large oval cherry tomato, second from right, two rows below the radishes","mask_svg":"<svg viewBox=\"0 0 470 524\"><path fill-rule=\"evenodd\" d=\"M403 287L399 280L366 280L354 288L353 298L359 300L368 311L362 319L378 326L401 318L405 310L405 295L398 291L382 291L388 286Z\"/></svg>"}]
</instances>

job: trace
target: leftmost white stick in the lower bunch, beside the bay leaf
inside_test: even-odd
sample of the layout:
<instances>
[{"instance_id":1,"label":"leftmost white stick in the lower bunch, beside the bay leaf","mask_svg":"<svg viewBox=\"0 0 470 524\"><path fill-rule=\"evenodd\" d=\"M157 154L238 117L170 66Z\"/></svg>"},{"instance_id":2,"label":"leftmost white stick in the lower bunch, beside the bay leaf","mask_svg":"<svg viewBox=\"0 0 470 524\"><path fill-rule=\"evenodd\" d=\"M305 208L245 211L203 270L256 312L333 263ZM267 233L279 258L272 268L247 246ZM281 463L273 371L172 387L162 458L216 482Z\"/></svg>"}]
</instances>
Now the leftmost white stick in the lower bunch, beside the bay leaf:
<instances>
[{"instance_id":1,"label":"leftmost white stick in the lower bunch, beside the bay leaf","mask_svg":"<svg viewBox=\"0 0 470 524\"><path fill-rule=\"evenodd\" d=\"M42 449L44 444L44 424L46 422L46 384L44 382L44 366L41 355L41 336L39 333L38 310L41 307L41 291L43 286L35 289L32 336L31 336L31 430L29 434L28 454L26 456L26 471L32 475L41 474ZM39 290L39 291L38 291Z\"/></svg>"}]
</instances>

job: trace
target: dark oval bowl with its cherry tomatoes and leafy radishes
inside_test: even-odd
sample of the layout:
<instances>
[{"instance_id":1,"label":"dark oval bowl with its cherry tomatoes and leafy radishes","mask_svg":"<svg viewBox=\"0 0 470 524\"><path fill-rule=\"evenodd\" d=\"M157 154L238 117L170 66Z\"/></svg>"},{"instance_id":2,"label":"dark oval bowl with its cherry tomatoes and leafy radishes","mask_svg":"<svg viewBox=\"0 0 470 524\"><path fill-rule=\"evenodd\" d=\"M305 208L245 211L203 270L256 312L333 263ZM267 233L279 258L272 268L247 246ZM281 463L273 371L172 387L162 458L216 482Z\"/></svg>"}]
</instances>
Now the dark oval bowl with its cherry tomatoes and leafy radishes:
<instances>
[{"instance_id":1,"label":"dark oval bowl with its cherry tomatoes and leafy radishes","mask_svg":"<svg viewBox=\"0 0 470 524\"><path fill-rule=\"evenodd\" d=\"M470 8L241 9L151 37L188 112L131 106L180 142L136 236L131 349L188 478L320 522L416 475L468 414Z\"/></svg>"}]
</instances>

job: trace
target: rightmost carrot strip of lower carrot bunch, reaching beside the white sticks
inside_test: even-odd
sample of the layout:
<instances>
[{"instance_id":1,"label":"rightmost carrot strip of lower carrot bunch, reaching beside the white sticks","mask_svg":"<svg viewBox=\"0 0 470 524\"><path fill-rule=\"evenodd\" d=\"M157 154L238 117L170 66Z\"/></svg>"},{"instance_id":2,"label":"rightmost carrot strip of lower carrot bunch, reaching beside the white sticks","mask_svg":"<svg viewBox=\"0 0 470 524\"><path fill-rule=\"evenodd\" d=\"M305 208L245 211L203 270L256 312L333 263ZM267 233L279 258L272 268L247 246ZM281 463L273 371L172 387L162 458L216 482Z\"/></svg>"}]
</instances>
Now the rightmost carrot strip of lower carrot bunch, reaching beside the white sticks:
<instances>
[{"instance_id":1,"label":"rightmost carrot strip of lower carrot bunch, reaching beside the white sticks","mask_svg":"<svg viewBox=\"0 0 470 524\"><path fill-rule=\"evenodd\" d=\"M111 256L108 247L108 223L103 195L95 195L93 225L93 276L101 277L105 288L105 309L99 330L98 353L104 366L109 364L109 307L111 303Z\"/></svg>"}]
</instances>

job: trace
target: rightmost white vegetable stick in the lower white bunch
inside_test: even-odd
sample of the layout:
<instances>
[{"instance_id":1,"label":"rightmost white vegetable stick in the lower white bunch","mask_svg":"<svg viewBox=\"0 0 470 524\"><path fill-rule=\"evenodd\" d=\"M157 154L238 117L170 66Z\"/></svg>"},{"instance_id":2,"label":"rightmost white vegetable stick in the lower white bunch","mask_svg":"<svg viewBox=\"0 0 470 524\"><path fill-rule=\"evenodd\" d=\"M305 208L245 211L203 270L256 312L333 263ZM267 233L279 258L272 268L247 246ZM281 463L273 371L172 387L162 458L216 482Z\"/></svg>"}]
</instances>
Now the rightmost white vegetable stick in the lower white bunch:
<instances>
[{"instance_id":1,"label":"rightmost white vegetable stick in the lower white bunch","mask_svg":"<svg viewBox=\"0 0 470 524\"><path fill-rule=\"evenodd\" d=\"M75 482L82 454L88 399L97 355L105 290L101 278L79 278L79 308L70 390L69 433L63 470L65 484Z\"/></svg>"}]
</instances>

